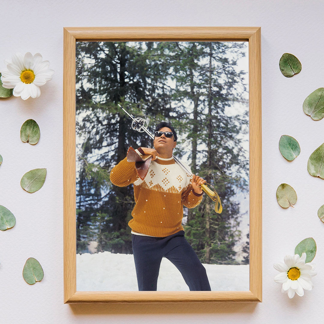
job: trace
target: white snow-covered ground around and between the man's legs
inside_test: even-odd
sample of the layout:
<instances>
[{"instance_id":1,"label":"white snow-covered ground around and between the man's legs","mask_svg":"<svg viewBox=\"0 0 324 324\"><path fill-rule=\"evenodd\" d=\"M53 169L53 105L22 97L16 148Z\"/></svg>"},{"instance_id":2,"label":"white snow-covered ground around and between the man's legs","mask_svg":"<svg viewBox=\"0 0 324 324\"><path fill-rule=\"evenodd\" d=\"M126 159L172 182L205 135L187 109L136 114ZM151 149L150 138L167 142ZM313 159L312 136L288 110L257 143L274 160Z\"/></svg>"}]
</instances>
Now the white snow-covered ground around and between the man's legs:
<instances>
[{"instance_id":1,"label":"white snow-covered ground around and between the man's legs","mask_svg":"<svg viewBox=\"0 0 324 324\"><path fill-rule=\"evenodd\" d=\"M249 290L249 265L204 264L214 291ZM77 291L138 291L132 254L98 252L76 255ZM158 291L188 291L179 270L162 259Z\"/></svg>"}]
</instances>

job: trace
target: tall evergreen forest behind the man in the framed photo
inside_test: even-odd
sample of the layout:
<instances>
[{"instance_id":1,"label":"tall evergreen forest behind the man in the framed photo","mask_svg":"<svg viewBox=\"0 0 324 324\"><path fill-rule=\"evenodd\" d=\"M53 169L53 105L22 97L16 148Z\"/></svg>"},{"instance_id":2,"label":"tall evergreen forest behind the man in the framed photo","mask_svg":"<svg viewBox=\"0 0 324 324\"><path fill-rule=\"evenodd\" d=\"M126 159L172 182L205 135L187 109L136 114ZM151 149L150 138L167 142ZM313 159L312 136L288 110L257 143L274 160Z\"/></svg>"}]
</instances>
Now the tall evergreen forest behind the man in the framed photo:
<instances>
[{"instance_id":1,"label":"tall evergreen forest behind the man in the framed photo","mask_svg":"<svg viewBox=\"0 0 324 324\"><path fill-rule=\"evenodd\" d=\"M238 63L245 42L76 42L77 253L132 253L127 225L133 186L111 184L111 168L130 146L152 147L131 128L135 117L154 131L168 121L178 134L174 155L212 184L223 212L204 194L184 207L185 235L203 263L248 264L242 195L249 197L248 71ZM237 251L240 245L240 251ZM238 254L241 258L238 259Z\"/></svg>"}]
</instances>

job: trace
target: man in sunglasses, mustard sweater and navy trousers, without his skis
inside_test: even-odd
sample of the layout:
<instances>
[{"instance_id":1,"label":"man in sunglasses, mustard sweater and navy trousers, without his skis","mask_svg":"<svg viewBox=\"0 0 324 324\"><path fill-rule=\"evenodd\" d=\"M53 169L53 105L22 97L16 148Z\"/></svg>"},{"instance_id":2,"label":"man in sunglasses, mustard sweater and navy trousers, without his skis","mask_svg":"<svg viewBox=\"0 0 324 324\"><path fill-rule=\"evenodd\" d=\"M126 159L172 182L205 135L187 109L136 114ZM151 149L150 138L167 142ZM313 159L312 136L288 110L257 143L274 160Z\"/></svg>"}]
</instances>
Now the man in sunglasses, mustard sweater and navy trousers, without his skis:
<instances>
[{"instance_id":1,"label":"man in sunglasses, mustard sweater and navy trousers, without his skis","mask_svg":"<svg viewBox=\"0 0 324 324\"><path fill-rule=\"evenodd\" d=\"M136 204L128 225L132 228L138 289L156 290L160 263L166 257L179 269L191 291L211 290L206 270L186 241L181 225L183 205L193 208L202 201L200 186L206 181L196 175L191 179L175 163L172 152L177 134L169 123L157 125L154 135L153 149L137 149L139 154L153 156L144 180L137 175L135 162L127 162L127 158L110 172L113 184L134 184Z\"/></svg>"}]
</instances>

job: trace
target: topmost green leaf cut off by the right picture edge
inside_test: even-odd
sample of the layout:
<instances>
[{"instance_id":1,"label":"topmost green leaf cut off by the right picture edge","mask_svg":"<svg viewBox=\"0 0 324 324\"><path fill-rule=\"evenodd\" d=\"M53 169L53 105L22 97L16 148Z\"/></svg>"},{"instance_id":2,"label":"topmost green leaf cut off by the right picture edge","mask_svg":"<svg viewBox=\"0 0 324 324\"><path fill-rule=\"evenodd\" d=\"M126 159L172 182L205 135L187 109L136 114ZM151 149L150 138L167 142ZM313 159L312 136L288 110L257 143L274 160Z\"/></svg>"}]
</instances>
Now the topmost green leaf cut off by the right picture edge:
<instances>
[{"instance_id":1,"label":"topmost green leaf cut off by the right picture edge","mask_svg":"<svg viewBox=\"0 0 324 324\"><path fill-rule=\"evenodd\" d=\"M316 89L304 100L303 110L314 121L324 117L324 88Z\"/></svg>"}]
</instances>

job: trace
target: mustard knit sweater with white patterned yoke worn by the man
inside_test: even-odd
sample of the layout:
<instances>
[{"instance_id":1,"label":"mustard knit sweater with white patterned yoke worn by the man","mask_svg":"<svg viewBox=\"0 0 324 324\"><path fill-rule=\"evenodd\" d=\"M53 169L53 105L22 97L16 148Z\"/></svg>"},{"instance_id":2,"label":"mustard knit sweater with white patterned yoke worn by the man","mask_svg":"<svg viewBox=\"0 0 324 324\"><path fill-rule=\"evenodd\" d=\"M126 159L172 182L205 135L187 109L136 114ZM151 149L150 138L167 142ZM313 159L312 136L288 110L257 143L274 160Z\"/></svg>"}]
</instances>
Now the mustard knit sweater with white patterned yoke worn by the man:
<instances>
[{"instance_id":1,"label":"mustard knit sweater with white patterned yoke worn by the man","mask_svg":"<svg viewBox=\"0 0 324 324\"><path fill-rule=\"evenodd\" d=\"M112 168L110 180L119 187L134 184L136 204L128 225L134 232L149 236L166 237L183 230L183 205L193 208L202 201L202 194L192 190L190 176L173 157L157 157L144 180L137 175L135 162L124 158Z\"/></svg>"}]
</instances>

